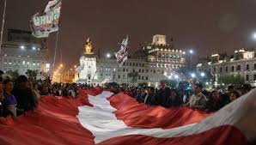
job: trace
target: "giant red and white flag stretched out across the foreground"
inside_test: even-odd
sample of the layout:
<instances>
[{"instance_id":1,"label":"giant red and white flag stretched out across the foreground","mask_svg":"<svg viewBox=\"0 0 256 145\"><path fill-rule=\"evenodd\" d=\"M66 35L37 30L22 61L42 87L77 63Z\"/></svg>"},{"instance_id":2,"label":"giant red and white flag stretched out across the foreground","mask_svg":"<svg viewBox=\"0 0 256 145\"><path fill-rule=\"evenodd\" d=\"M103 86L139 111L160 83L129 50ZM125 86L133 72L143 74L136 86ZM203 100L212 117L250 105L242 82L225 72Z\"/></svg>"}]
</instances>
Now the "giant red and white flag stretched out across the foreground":
<instances>
[{"instance_id":1,"label":"giant red and white flag stretched out across the foreground","mask_svg":"<svg viewBox=\"0 0 256 145\"><path fill-rule=\"evenodd\" d=\"M255 94L215 113L101 90L82 90L77 100L46 96L34 112L0 124L0 145L247 145L256 138Z\"/></svg>"}]
</instances>

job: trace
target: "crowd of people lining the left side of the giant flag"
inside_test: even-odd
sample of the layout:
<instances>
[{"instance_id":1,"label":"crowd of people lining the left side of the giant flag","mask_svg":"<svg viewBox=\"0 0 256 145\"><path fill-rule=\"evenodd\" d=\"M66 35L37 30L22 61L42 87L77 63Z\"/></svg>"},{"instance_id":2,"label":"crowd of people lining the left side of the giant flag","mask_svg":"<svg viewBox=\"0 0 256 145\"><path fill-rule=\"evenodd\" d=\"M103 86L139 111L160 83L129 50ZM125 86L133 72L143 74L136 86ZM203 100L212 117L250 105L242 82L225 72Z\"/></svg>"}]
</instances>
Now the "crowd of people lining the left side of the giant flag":
<instances>
[{"instance_id":1,"label":"crowd of people lining the left side of the giant flag","mask_svg":"<svg viewBox=\"0 0 256 145\"><path fill-rule=\"evenodd\" d=\"M0 76L0 118L16 118L28 111L34 111L41 97L48 94L75 99L79 89L76 83L52 84L49 79L33 82L27 76L19 76L15 80Z\"/></svg>"}]
</instances>

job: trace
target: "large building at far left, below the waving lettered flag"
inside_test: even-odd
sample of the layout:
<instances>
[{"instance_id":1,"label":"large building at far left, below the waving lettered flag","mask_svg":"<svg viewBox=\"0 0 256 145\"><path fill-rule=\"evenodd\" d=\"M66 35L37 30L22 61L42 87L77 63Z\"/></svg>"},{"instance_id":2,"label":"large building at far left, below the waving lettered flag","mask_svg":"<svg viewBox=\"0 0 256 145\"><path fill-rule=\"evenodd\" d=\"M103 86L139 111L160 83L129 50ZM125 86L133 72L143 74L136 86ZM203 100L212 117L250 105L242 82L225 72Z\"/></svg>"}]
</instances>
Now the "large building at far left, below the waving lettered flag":
<instances>
[{"instance_id":1,"label":"large building at far left, below the waving lettered flag","mask_svg":"<svg viewBox=\"0 0 256 145\"><path fill-rule=\"evenodd\" d=\"M27 69L31 69L46 75L50 70L46 45L29 41L27 31L11 29L8 34L9 41L2 45L0 69L3 72L17 70L20 75L26 75Z\"/></svg>"}]
</instances>

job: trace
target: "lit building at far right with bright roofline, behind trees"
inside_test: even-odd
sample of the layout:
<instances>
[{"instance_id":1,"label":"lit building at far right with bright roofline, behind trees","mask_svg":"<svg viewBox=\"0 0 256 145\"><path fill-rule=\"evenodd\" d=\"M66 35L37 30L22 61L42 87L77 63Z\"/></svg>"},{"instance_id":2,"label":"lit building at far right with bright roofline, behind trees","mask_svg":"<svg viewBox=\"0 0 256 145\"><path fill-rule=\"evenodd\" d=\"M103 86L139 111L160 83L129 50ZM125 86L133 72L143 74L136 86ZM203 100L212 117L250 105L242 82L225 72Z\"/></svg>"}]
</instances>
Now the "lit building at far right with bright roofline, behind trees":
<instances>
[{"instance_id":1,"label":"lit building at far right with bright roofline, behind trees","mask_svg":"<svg viewBox=\"0 0 256 145\"><path fill-rule=\"evenodd\" d=\"M209 71L215 76L215 84L218 85L220 76L240 75L246 83L256 87L256 57L255 51L244 49L235 51L233 56L214 54L208 63L198 63L197 69Z\"/></svg>"}]
</instances>

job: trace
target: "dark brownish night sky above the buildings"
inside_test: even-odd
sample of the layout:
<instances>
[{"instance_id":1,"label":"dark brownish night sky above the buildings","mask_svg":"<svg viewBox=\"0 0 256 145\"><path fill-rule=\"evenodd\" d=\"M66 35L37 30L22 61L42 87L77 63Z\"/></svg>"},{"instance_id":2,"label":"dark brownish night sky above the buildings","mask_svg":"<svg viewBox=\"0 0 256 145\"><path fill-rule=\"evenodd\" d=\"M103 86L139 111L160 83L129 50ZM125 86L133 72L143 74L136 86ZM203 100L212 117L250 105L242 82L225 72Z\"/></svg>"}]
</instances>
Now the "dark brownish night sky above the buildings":
<instances>
[{"instance_id":1,"label":"dark brownish night sky above the buildings","mask_svg":"<svg viewBox=\"0 0 256 145\"><path fill-rule=\"evenodd\" d=\"M29 29L31 15L45 9L46 0L8 0L5 29ZM1 15L3 14L3 0ZM2 16L1 16L2 17ZM211 51L253 48L256 41L256 0L63 0L59 48L64 63L76 63L88 36L94 50L115 51L126 34L130 50L151 42L156 33L174 37L180 49L199 56ZM50 37L53 52L55 34ZM59 58L58 58L59 60Z\"/></svg>"}]
</instances>

